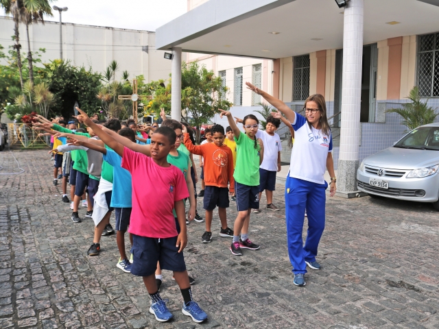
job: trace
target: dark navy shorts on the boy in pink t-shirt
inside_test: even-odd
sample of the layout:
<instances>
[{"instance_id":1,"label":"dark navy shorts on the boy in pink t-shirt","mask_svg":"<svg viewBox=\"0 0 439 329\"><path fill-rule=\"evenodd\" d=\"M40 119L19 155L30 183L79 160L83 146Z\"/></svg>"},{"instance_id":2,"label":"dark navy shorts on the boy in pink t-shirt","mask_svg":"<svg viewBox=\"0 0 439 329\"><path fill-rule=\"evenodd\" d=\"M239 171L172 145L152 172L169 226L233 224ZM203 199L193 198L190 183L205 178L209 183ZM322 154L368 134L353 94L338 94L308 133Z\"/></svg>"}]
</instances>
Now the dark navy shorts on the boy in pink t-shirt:
<instances>
[{"instance_id":1,"label":"dark navy shorts on the boy in pink t-shirt","mask_svg":"<svg viewBox=\"0 0 439 329\"><path fill-rule=\"evenodd\" d=\"M147 238L132 234L132 268L134 276L151 276L157 269L157 261L161 269L169 271L186 271L183 252L178 253L177 236L165 239Z\"/></svg>"}]
</instances>

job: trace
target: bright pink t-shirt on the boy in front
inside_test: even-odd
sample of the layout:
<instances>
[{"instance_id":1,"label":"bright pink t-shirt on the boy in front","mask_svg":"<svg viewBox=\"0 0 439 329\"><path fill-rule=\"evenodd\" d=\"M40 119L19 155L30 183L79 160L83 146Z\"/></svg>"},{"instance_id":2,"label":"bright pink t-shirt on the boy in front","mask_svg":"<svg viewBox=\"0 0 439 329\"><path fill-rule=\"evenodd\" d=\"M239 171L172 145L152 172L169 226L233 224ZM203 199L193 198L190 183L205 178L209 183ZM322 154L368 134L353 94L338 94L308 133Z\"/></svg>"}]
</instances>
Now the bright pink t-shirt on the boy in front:
<instances>
[{"instance_id":1,"label":"bright pink t-shirt on the boy in front","mask_svg":"<svg viewBox=\"0 0 439 329\"><path fill-rule=\"evenodd\" d=\"M174 202L189 197L182 171L173 165L161 167L127 147L121 167L132 176L130 233L156 239L177 236Z\"/></svg>"}]
</instances>

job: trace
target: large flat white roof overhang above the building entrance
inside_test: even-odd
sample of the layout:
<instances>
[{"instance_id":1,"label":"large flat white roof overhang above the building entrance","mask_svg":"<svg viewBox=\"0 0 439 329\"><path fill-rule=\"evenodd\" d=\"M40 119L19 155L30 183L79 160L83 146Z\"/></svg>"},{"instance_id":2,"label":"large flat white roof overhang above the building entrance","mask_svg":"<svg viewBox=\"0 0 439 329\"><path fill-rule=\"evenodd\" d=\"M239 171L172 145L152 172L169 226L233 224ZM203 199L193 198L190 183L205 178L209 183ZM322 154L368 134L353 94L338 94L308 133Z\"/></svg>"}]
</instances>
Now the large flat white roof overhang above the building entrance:
<instances>
[{"instance_id":1,"label":"large flat white roof overhang above the building entrance","mask_svg":"<svg viewBox=\"0 0 439 329\"><path fill-rule=\"evenodd\" d=\"M364 1L364 44L438 32L436 2ZM298 56L342 48L343 17L333 0L209 0L158 27L156 48L254 58ZM388 24L394 21L399 23Z\"/></svg>"}]
</instances>

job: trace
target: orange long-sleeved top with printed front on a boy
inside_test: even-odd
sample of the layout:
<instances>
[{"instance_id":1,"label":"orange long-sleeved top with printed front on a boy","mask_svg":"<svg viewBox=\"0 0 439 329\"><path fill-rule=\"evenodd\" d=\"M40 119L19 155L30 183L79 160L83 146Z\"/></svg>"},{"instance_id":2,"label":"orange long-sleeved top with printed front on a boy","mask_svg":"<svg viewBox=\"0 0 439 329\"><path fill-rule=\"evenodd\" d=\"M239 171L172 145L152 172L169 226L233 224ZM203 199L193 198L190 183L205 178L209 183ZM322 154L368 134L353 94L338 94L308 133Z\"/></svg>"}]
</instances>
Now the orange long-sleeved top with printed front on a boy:
<instances>
[{"instance_id":1,"label":"orange long-sleeved top with printed front on a boy","mask_svg":"<svg viewBox=\"0 0 439 329\"><path fill-rule=\"evenodd\" d=\"M192 154L204 158L204 184L207 186L228 187L230 192L235 191L235 179L233 178L233 153L230 147L222 145L217 147L215 143L193 145L189 134L185 134L185 146Z\"/></svg>"}]
</instances>

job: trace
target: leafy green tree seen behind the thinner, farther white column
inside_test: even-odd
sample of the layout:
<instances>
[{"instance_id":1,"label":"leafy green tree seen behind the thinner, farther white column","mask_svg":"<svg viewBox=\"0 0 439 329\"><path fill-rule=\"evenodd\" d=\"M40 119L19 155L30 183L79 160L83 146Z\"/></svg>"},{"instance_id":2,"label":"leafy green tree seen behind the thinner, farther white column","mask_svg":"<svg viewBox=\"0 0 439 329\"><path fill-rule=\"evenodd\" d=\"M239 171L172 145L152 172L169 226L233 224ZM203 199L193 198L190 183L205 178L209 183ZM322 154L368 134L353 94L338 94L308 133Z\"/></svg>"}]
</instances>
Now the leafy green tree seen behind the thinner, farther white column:
<instances>
[{"instance_id":1,"label":"leafy green tree seen behind the thinner, farther white column","mask_svg":"<svg viewBox=\"0 0 439 329\"><path fill-rule=\"evenodd\" d=\"M147 105L147 112L171 112L171 83L163 80L146 85L145 95L153 99ZM215 77L212 70L200 66L198 62L182 63L181 73L181 108L182 117L192 126L197 127L197 139L200 141L200 127L213 118L219 108L228 110L233 104L226 100L228 87L222 85L221 77Z\"/></svg>"}]
</instances>

